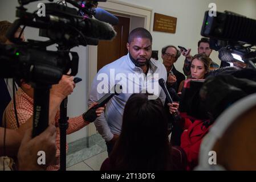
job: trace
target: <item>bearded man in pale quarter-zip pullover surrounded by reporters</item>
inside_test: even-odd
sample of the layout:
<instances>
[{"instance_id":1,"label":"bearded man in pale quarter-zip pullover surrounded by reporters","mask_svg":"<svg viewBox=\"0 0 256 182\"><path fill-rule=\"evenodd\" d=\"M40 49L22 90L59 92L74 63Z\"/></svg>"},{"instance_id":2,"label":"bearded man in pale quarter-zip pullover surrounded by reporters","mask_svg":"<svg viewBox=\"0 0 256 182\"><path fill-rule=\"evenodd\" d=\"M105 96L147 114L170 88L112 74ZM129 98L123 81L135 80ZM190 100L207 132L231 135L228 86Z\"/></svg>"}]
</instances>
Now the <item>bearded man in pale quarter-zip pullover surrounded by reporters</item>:
<instances>
[{"instance_id":1,"label":"bearded man in pale quarter-zip pullover surrounded by reporters","mask_svg":"<svg viewBox=\"0 0 256 182\"><path fill-rule=\"evenodd\" d=\"M116 139L119 137L124 106L133 93L153 93L164 104L165 94L158 84L160 78L167 78L162 63L151 59L152 35L145 28L131 31L127 43L128 54L105 65L94 78L88 104L99 100L115 84L123 87L118 96L107 104L105 114L96 119L97 131L105 139L110 154ZM153 97L149 99L154 99Z\"/></svg>"}]
</instances>

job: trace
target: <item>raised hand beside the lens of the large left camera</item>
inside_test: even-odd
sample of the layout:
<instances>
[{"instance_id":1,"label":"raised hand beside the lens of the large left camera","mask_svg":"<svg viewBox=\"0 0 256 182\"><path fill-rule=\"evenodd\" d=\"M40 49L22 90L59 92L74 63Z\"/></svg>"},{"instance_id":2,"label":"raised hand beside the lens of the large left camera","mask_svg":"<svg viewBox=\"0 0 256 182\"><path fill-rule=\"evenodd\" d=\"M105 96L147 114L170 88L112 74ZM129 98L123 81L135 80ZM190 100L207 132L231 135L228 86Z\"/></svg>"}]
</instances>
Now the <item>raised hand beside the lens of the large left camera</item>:
<instances>
[{"instance_id":1,"label":"raised hand beside the lens of the large left camera","mask_svg":"<svg viewBox=\"0 0 256 182\"><path fill-rule=\"evenodd\" d=\"M74 77L63 75L59 84L52 85L51 96L58 97L62 100L66 98L75 88L75 82L73 80Z\"/></svg>"}]
</instances>

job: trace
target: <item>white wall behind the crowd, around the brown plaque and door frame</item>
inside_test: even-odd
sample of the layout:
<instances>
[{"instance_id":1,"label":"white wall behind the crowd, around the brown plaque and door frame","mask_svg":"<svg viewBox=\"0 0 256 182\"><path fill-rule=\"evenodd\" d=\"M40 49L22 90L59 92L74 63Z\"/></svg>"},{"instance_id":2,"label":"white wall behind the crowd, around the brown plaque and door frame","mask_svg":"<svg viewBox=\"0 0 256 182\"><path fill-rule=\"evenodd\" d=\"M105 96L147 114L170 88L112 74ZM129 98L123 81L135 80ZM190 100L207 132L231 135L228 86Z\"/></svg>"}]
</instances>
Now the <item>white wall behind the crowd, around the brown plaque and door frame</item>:
<instances>
[{"instance_id":1,"label":"white wall behind the crowd, around the brown plaque and door frame","mask_svg":"<svg viewBox=\"0 0 256 182\"><path fill-rule=\"evenodd\" d=\"M234 11L235 13L246 15L249 18L256 19L256 0L120 0L135 5L149 7L153 9L153 13L160 13L169 16L177 17L176 34L168 34L164 32L153 32L153 17L151 20L151 32L153 35L153 50L159 50L161 57L161 48L167 44L174 46L184 46L192 48L192 54L197 53L197 42L201 38L200 31L204 12L208 9L211 2L216 3L217 11ZM18 6L17 0L0 1L0 19L15 20L15 7ZM42 1L46 2L46 1ZM38 2L31 3L29 10L35 10ZM153 14L152 14L153 16ZM38 31L27 28L25 36L28 39L38 38ZM55 49L52 46L50 49ZM74 93L69 97L68 115L74 117L82 114L87 109L87 94L88 94L88 47L78 47L74 49L79 53L79 73L78 76L83 78L83 81L76 85ZM212 53L212 59L218 63L217 53ZM176 67L182 72L184 58L181 57ZM84 128L77 133L67 137L68 142L86 137L87 129Z\"/></svg>"}]
</instances>

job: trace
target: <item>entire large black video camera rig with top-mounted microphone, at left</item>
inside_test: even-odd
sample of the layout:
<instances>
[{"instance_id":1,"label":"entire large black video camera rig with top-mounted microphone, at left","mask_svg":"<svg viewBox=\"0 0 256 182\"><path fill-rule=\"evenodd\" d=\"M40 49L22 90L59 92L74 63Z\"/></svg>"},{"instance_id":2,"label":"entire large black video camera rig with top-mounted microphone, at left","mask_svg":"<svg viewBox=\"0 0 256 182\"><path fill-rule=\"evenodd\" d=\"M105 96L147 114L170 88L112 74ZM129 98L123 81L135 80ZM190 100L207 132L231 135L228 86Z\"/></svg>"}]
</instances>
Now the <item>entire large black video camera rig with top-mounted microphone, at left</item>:
<instances>
[{"instance_id":1,"label":"entire large black video camera rig with top-mounted microphone, at left","mask_svg":"<svg viewBox=\"0 0 256 182\"><path fill-rule=\"evenodd\" d=\"M7 39L14 44L0 45L0 76L24 78L34 88L33 137L48 126L51 85L58 84L62 75L75 76L78 72L78 53L70 52L70 49L80 45L97 45L99 40L112 40L116 31L109 23L118 23L115 16L96 8L98 1L106 0L44 3L46 12L43 15L39 15L38 10L29 13L24 7L35 1L38 0L18 1L20 6L17 7L16 15L19 19L15 20L6 34ZM73 7L68 7L67 3ZM83 16L80 16L81 12ZM92 18L94 15L99 20ZM105 22L101 22L102 16ZM39 28L40 36L49 40L21 42L14 35L22 25L23 29L26 26ZM46 50L55 43L58 44L58 51Z\"/></svg>"}]
</instances>

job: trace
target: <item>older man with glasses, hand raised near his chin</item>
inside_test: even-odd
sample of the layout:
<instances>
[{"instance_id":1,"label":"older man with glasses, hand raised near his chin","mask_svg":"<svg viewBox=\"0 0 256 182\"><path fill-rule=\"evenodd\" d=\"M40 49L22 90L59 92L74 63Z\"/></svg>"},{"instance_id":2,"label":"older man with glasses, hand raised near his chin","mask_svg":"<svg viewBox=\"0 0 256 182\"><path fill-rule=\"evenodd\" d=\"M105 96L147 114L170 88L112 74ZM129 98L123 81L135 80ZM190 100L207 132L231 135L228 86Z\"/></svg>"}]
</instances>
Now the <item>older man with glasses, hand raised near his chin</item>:
<instances>
[{"instance_id":1,"label":"older man with glasses, hand raised near his chin","mask_svg":"<svg viewBox=\"0 0 256 182\"><path fill-rule=\"evenodd\" d=\"M176 92L178 92L180 82L185 80L185 76L177 71L173 65L180 55L181 52L175 46L169 45L162 48L162 64L164 64L167 71L166 85L168 88L173 88Z\"/></svg>"}]
</instances>

